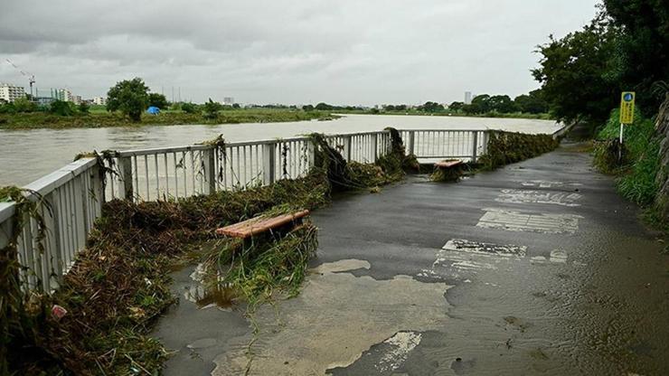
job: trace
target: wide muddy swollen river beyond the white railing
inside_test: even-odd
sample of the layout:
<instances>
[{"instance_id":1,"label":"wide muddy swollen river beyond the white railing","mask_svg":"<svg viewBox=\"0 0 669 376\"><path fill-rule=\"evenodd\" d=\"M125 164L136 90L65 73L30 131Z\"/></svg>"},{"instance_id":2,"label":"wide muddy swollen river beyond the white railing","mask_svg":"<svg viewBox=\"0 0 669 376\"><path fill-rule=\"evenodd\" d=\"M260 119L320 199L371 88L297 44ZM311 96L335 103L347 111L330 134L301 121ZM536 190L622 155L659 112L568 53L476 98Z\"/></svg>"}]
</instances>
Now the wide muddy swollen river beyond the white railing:
<instances>
[{"instance_id":1,"label":"wide muddy swollen river beyond the white railing","mask_svg":"<svg viewBox=\"0 0 669 376\"><path fill-rule=\"evenodd\" d=\"M74 155L92 150L183 146L221 134L226 141L238 142L311 132L366 132L384 127L503 129L524 133L552 133L560 128L550 120L347 115L331 121L288 123L0 130L0 185L30 183L70 163Z\"/></svg>"}]
</instances>

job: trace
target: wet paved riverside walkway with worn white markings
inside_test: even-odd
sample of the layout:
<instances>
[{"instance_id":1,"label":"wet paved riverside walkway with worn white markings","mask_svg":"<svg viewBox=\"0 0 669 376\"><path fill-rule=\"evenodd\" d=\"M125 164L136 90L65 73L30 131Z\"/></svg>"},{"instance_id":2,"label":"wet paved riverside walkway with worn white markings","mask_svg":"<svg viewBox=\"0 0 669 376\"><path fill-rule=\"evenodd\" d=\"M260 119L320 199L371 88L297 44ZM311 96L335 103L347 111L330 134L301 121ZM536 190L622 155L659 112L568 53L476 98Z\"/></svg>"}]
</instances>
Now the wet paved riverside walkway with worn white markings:
<instances>
[{"instance_id":1,"label":"wet paved riverside walkway with worn white markings","mask_svg":"<svg viewBox=\"0 0 669 376\"><path fill-rule=\"evenodd\" d=\"M636 216L569 146L339 198L251 355L242 312L182 299L156 331L178 350L165 374L669 374L669 257Z\"/></svg>"}]
</instances>

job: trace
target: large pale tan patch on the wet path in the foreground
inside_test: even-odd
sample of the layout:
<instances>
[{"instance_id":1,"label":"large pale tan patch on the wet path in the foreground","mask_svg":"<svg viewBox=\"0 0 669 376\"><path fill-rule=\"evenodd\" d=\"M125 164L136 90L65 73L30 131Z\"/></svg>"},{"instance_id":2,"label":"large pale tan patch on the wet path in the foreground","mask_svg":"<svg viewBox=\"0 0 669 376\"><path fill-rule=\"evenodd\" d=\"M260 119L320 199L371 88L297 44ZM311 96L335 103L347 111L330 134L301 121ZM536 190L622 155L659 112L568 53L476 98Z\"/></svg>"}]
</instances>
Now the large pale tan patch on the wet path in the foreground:
<instances>
[{"instance_id":1,"label":"large pale tan patch on the wet path in the foreground","mask_svg":"<svg viewBox=\"0 0 669 376\"><path fill-rule=\"evenodd\" d=\"M258 340L247 356L250 334L232 340L232 350L215 360L214 375L325 374L346 367L374 344L394 349L379 365L391 369L419 343L419 332L448 320L444 283L423 283L409 276L376 280L350 271L369 262L345 259L311 270L296 298L259 308L254 319ZM404 333L404 334L400 334Z\"/></svg>"}]
</instances>

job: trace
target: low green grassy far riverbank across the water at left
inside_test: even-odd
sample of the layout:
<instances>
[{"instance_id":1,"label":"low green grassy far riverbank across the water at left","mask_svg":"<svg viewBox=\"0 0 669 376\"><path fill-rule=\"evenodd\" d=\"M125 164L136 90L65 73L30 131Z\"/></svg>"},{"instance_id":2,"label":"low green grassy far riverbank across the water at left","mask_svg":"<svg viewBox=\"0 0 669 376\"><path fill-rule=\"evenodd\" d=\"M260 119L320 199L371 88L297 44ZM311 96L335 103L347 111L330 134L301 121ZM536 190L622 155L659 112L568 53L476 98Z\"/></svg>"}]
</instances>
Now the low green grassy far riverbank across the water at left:
<instances>
[{"instance_id":1,"label":"low green grassy far riverbank across the water at left","mask_svg":"<svg viewBox=\"0 0 669 376\"><path fill-rule=\"evenodd\" d=\"M221 111L217 118L204 118L202 114L187 114L184 111L163 111L159 115L142 115L142 121L134 123L116 113L108 113L98 108L90 114L63 117L44 112L0 114L0 129L34 128L81 128L81 127L137 127L174 126L188 124L239 124L276 123L312 119L334 118L326 111L302 111L291 109L243 108Z\"/></svg>"}]
</instances>

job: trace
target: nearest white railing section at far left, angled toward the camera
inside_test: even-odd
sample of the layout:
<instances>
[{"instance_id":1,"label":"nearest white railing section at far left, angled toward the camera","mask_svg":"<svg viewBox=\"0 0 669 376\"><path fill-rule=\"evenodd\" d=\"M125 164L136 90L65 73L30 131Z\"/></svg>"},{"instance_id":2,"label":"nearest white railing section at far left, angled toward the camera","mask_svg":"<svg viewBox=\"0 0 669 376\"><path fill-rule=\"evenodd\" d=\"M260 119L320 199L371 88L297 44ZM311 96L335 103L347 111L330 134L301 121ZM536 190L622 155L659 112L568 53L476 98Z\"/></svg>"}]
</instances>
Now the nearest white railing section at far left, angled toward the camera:
<instances>
[{"instance_id":1,"label":"nearest white railing section at far left, angled toward the camera","mask_svg":"<svg viewBox=\"0 0 669 376\"><path fill-rule=\"evenodd\" d=\"M35 216L23 214L17 240L26 289L51 291L85 248L89 231L101 213L100 172L96 158L83 158L24 187L26 197L37 202ZM15 209L14 202L0 203L0 249L13 234Z\"/></svg>"}]
</instances>

